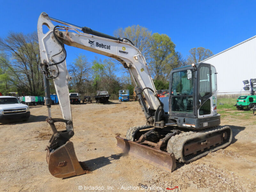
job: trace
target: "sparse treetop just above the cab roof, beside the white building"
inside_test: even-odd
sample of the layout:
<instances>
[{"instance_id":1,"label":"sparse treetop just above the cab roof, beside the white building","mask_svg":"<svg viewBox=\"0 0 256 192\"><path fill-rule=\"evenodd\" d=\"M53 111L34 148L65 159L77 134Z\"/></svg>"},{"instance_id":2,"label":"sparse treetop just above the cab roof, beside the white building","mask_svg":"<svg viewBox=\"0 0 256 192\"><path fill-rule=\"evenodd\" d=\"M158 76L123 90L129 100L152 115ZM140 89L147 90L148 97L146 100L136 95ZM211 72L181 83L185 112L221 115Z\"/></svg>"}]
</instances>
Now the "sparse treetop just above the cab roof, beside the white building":
<instances>
[{"instance_id":1,"label":"sparse treetop just above the cab roof, beside the white building","mask_svg":"<svg viewBox=\"0 0 256 192\"><path fill-rule=\"evenodd\" d=\"M190 55L187 58L188 65L191 65L192 63L199 63L213 55L211 50L205 49L204 47L192 48L189 50L189 53Z\"/></svg>"}]
</instances>

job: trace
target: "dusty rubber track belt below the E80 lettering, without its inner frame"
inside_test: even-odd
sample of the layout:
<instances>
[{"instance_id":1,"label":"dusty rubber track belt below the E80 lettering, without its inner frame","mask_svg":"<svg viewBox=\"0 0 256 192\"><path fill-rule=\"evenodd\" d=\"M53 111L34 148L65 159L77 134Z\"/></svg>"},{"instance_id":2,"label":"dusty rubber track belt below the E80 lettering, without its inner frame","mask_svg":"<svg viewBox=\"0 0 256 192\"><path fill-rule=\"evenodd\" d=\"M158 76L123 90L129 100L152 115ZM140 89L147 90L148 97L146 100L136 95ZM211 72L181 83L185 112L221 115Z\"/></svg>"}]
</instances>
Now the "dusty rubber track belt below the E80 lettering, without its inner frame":
<instances>
[{"instance_id":1,"label":"dusty rubber track belt below the E80 lettering, without its inner frame","mask_svg":"<svg viewBox=\"0 0 256 192\"><path fill-rule=\"evenodd\" d=\"M223 130L230 130L230 135L229 138L227 138L226 142L223 142L221 144L216 144L215 147L211 147L210 149L205 149L204 151L200 151L197 152L196 155L194 154L190 154L188 156L183 156L183 148L185 143L188 140L194 140L200 137L204 137L208 134L214 133L214 132L220 132ZM171 137L171 139L168 141L167 144L167 152L168 153L174 153L175 159L183 162L183 163L190 163L192 161L195 161L203 156L206 156L208 153L213 152L213 151L217 151L221 148L225 148L227 147L232 140L232 130L230 129L229 126L218 126L218 127L213 127L210 129L206 129L206 130L202 130L200 132L193 132L193 131L189 131L189 132L183 132L180 133L179 135L175 135L173 137Z\"/></svg>"}]
</instances>

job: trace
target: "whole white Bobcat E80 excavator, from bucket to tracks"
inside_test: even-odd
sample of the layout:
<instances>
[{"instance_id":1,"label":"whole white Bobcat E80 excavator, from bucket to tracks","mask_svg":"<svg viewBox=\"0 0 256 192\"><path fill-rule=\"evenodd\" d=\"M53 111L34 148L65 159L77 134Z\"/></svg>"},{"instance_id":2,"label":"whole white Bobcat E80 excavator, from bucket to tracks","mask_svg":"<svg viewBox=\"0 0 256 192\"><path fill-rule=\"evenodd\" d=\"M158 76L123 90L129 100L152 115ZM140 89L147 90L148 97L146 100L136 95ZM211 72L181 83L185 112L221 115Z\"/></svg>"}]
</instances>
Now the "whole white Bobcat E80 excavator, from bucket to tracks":
<instances>
[{"instance_id":1,"label":"whole white Bobcat E80 excavator, from bucket to tracks","mask_svg":"<svg viewBox=\"0 0 256 192\"><path fill-rule=\"evenodd\" d=\"M219 126L214 66L199 63L173 69L169 96L160 101L146 60L129 39L54 19L45 12L39 16L37 30L48 109L46 121L53 132L45 149L46 161L53 176L67 178L89 172L88 167L77 160L70 141L74 130L68 81L72 77L66 67L64 44L114 58L129 71L146 125L128 129L126 139L116 136L117 146L124 152L172 172L176 161L190 163L231 143L230 127ZM54 82L63 118L52 118L50 79ZM63 122L65 129L57 130L56 122Z\"/></svg>"}]
</instances>

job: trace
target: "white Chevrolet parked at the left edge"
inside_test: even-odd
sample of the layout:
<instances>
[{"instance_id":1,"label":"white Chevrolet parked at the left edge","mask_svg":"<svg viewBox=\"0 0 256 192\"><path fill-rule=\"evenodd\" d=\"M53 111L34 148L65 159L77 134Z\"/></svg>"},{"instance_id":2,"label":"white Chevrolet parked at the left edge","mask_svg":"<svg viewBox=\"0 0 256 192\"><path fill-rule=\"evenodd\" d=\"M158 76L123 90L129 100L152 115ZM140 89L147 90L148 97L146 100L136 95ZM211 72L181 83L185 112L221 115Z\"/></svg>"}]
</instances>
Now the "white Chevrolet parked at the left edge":
<instances>
[{"instance_id":1,"label":"white Chevrolet parked at the left edge","mask_svg":"<svg viewBox=\"0 0 256 192\"><path fill-rule=\"evenodd\" d=\"M0 96L0 123L28 121L28 105L22 104L16 97Z\"/></svg>"}]
</instances>

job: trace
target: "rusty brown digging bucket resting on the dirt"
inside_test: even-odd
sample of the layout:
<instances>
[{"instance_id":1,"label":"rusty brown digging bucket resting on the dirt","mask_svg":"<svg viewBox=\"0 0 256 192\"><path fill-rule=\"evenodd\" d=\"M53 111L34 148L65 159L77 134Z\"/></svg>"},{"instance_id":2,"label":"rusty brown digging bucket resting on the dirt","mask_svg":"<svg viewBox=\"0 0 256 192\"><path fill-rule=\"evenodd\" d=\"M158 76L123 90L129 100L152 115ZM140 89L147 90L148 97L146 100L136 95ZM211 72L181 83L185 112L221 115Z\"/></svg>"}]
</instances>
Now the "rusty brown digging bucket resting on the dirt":
<instances>
[{"instance_id":1,"label":"rusty brown digging bucket resting on the dirt","mask_svg":"<svg viewBox=\"0 0 256 192\"><path fill-rule=\"evenodd\" d=\"M49 171L54 177L66 178L90 173L82 162L78 162L73 142L69 140L51 152L48 148L46 161L49 165Z\"/></svg>"}]
</instances>

